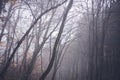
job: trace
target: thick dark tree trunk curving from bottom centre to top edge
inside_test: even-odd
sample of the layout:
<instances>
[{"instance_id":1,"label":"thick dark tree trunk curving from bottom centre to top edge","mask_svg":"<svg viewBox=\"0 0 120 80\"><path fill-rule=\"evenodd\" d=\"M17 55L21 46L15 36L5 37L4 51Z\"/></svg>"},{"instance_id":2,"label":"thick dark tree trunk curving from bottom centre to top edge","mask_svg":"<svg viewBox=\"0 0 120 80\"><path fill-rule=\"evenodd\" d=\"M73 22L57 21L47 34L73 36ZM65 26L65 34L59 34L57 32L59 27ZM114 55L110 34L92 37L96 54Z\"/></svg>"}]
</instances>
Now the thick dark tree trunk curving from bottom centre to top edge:
<instances>
[{"instance_id":1,"label":"thick dark tree trunk curving from bottom centre to top edge","mask_svg":"<svg viewBox=\"0 0 120 80\"><path fill-rule=\"evenodd\" d=\"M62 24L60 26L60 30L59 30L59 33L57 35L57 38L56 38L56 41L55 41L55 44L54 44L54 48L53 48L53 53L52 53L52 58L50 60L50 63L46 69L46 71L42 74L42 76L40 77L39 80L45 80L45 78L47 77L47 75L49 74L49 72L51 71L52 67L53 67L53 64L54 64L54 60L55 60L55 56L56 56L56 52L57 52L57 46L59 44L59 41L60 41L60 38L61 38L61 34L63 32L63 29L64 29L64 26L65 26L65 21L66 21L66 18L67 18L67 15L68 15L68 12L69 10L71 9L72 7L72 4L73 4L73 0L70 0L68 6L67 6L67 9L66 9L66 12L63 16L63 20L62 20Z\"/></svg>"}]
</instances>

